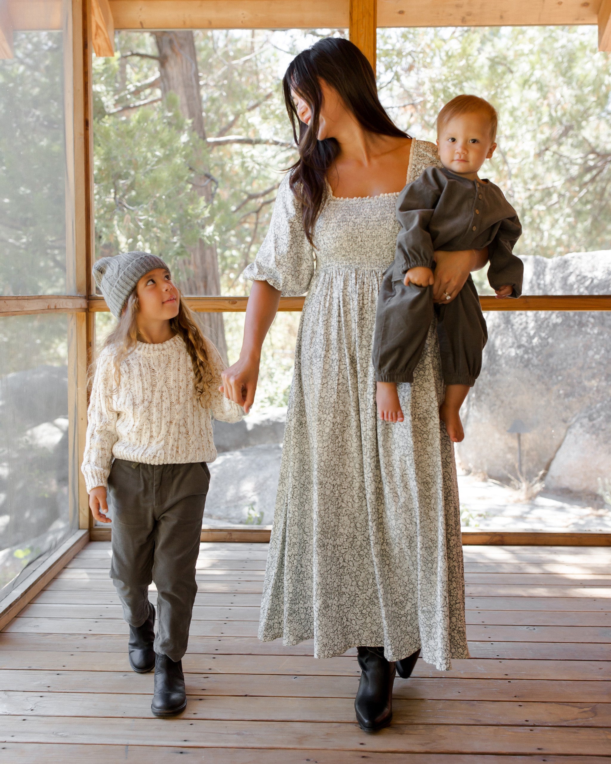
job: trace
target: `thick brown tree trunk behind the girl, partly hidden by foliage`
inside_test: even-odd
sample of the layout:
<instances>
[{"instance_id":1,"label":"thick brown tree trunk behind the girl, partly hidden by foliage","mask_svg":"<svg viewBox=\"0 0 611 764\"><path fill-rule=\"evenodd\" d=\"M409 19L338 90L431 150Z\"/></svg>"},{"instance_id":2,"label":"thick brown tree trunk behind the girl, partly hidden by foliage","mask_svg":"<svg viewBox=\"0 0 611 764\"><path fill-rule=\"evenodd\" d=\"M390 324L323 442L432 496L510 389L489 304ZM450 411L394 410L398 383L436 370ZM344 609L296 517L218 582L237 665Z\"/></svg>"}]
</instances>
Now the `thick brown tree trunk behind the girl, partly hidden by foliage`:
<instances>
[{"instance_id":1,"label":"thick brown tree trunk behind the girl, partly hidden by foliage","mask_svg":"<svg viewBox=\"0 0 611 764\"><path fill-rule=\"evenodd\" d=\"M159 73L161 95L178 95L181 114L191 120L193 131L205 141L205 125L202 113L202 93L199 89L199 67L197 65L196 44L190 30L174 32L154 32L159 51ZM193 184L200 196L212 200L213 188L206 174L193 177ZM218 255L215 244L206 244L199 239L194 247L189 247L190 261L181 263L179 268L180 289L186 294L218 295L221 293L221 278L218 273ZM185 267L186 266L186 267ZM222 313L198 313L198 324L207 337L218 348L227 363L227 343Z\"/></svg>"}]
</instances>

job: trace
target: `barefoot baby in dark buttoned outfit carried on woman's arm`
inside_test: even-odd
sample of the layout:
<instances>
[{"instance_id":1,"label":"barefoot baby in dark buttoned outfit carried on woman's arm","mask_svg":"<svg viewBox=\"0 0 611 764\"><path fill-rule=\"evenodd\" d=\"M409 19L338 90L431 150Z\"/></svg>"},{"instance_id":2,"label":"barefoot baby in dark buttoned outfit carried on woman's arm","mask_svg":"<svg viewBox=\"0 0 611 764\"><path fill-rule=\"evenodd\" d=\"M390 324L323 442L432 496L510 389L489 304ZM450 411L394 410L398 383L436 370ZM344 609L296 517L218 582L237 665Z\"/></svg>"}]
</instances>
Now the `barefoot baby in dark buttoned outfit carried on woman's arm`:
<instances>
[{"instance_id":1,"label":"barefoot baby in dark buttoned outfit carried on woman's arm","mask_svg":"<svg viewBox=\"0 0 611 764\"><path fill-rule=\"evenodd\" d=\"M522 261L512 254L522 226L501 189L477 175L496 148L496 125L493 106L475 95L458 95L441 109L441 167L428 167L399 194L395 261L377 303L373 365L380 418L403 421L396 384L412 382L436 313L446 386L439 415L454 442L464 438L459 410L480 374L488 335L471 277L455 297L444 293L451 302L434 306L434 253L487 247L488 280L496 295L522 293Z\"/></svg>"}]
</instances>

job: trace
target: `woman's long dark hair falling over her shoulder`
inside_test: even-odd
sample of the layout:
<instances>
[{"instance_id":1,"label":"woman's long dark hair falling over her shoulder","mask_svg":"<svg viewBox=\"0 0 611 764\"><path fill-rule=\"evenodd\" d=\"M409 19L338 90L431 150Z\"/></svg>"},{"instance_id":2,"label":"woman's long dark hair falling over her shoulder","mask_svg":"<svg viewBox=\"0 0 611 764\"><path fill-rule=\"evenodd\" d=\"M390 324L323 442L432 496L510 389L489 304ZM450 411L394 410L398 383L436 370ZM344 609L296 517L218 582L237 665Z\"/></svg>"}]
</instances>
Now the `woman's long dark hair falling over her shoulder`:
<instances>
[{"instance_id":1,"label":"woman's long dark hair falling over her shoulder","mask_svg":"<svg viewBox=\"0 0 611 764\"><path fill-rule=\"evenodd\" d=\"M327 170L339 153L335 138L318 141L318 116L322 90L318 79L337 90L347 108L371 133L409 138L394 124L377 97L376 76L371 64L354 43L341 37L325 37L304 50L289 64L282 80L284 102L299 147L299 160L290 168L290 187L302 204L303 228L310 244L314 224L327 195ZM299 120L291 90L312 109L309 125ZM297 134L299 123L299 136Z\"/></svg>"}]
</instances>

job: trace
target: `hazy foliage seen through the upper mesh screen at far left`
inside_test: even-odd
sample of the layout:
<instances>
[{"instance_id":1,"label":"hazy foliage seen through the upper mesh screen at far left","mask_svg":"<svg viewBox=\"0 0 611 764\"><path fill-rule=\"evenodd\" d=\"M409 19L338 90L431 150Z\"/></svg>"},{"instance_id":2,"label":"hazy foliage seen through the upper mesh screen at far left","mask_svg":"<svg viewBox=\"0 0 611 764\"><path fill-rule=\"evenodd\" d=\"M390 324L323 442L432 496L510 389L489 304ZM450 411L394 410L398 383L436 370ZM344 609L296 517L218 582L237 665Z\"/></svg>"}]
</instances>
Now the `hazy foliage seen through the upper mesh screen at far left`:
<instances>
[{"instance_id":1,"label":"hazy foliage seen through the upper mesh screen at far left","mask_svg":"<svg viewBox=\"0 0 611 764\"><path fill-rule=\"evenodd\" d=\"M0 61L2 294L66 292L63 85L62 33L16 32Z\"/></svg>"}]
</instances>

